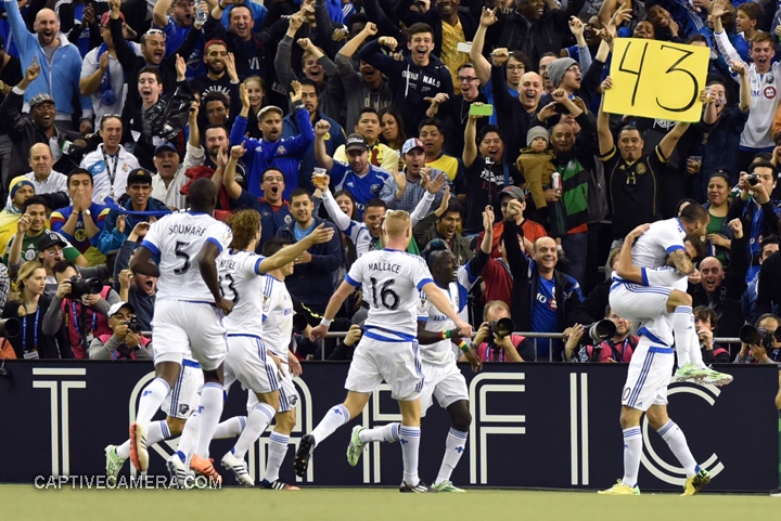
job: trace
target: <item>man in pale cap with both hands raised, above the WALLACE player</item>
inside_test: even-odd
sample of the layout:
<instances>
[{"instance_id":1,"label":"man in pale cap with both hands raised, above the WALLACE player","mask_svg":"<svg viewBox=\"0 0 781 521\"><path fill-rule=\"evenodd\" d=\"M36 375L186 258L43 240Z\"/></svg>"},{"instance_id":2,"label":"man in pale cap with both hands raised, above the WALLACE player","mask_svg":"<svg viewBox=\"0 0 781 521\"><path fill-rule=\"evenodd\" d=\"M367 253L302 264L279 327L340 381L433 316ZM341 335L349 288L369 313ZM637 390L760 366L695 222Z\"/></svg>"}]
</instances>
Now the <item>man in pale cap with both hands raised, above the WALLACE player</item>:
<instances>
[{"instance_id":1,"label":"man in pale cap with both hands raised, above the WALLACE player","mask_svg":"<svg viewBox=\"0 0 781 521\"><path fill-rule=\"evenodd\" d=\"M423 142L417 138L405 141L401 145L401 158L405 161L404 171L399 172L394 167L393 175L388 175L380 191L380 198L389 209L405 210L410 214L426 196L431 199L431 205L439 206L450 180L445 172L424 166ZM428 211L428 207L425 211ZM415 224L413 221L412 225Z\"/></svg>"}]
</instances>

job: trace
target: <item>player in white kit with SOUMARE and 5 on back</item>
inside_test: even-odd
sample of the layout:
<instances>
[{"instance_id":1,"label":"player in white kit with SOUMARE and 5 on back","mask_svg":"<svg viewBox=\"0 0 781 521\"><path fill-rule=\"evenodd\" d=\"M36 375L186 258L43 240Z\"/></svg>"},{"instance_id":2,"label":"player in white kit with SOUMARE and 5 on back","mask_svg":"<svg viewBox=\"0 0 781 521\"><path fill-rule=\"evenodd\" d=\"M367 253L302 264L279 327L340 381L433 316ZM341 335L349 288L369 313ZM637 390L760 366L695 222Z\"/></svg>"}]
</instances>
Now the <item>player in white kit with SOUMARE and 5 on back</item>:
<instances>
[{"instance_id":1,"label":"player in white kit with SOUMARE and 5 on back","mask_svg":"<svg viewBox=\"0 0 781 521\"><path fill-rule=\"evenodd\" d=\"M217 256L230 244L232 234L228 225L212 217L216 200L210 180L194 181L190 210L153 223L130 261L135 273L158 277L152 334L155 378L141 393L136 421L130 425L130 460L140 471L149 467L148 425L176 385L189 347L201 364L205 382L191 466L204 476L220 479L208 459L208 443L222 413L222 315L233 309L233 302L221 296L217 277Z\"/></svg>"}]
</instances>

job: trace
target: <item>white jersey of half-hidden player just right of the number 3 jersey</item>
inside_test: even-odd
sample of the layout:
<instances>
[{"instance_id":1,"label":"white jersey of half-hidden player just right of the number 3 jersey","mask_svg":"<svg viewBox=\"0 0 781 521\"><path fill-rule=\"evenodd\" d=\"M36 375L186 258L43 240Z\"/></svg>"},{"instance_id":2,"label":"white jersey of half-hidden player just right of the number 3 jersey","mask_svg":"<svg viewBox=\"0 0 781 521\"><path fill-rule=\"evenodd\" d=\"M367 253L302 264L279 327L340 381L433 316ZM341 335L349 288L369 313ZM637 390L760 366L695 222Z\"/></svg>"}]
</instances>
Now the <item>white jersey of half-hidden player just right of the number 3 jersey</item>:
<instances>
[{"instance_id":1,"label":"white jersey of half-hidden player just right of the number 3 jersey","mask_svg":"<svg viewBox=\"0 0 781 521\"><path fill-rule=\"evenodd\" d=\"M264 335L266 348L287 362L287 349L293 335L293 299L287 287L271 275L263 277Z\"/></svg>"}]
</instances>

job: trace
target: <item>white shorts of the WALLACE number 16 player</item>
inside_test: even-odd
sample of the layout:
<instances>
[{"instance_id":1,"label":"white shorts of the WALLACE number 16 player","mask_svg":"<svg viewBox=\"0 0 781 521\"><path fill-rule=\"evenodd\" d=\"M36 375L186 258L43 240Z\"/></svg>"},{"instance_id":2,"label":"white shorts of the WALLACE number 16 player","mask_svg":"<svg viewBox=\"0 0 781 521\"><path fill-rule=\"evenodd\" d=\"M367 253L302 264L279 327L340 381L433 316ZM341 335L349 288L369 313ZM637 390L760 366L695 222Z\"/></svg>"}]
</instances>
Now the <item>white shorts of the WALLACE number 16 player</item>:
<instances>
[{"instance_id":1,"label":"white shorts of the WALLACE number 16 player","mask_svg":"<svg viewBox=\"0 0 781 521\"><path fill-rule=\"evenodd\" d=\"M418 399L425 380L418 342L387 341L377 337L370 331L363 333L353 355L345 389L371 393L385 380L394 400Z\"/></svg>"}]
</instances>

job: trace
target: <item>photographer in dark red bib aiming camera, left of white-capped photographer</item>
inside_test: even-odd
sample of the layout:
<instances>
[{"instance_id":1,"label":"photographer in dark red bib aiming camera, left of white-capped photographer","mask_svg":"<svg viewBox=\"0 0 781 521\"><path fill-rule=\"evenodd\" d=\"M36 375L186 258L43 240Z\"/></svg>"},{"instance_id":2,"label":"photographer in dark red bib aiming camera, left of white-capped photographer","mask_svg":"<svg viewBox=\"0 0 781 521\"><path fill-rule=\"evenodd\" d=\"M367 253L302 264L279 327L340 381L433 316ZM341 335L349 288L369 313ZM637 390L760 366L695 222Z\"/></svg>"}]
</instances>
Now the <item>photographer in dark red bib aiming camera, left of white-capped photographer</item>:
<instances>
[{"instance_id":1,"label":"photographer in dark red bib aiming camera, left of white-capped photographer","mask_svg":"<svg viewBox=\"0 0 781 521\"><path fill-rule=\"evenodd\" d=\"M43 334L54 335L65 324L74 355L86 359L92 339L112 333L106 316L110 308L121 300L100 278L82 277L71 261L57 262L54 276L59 286L43 317Z\"/></svg>"}]
</instances>

